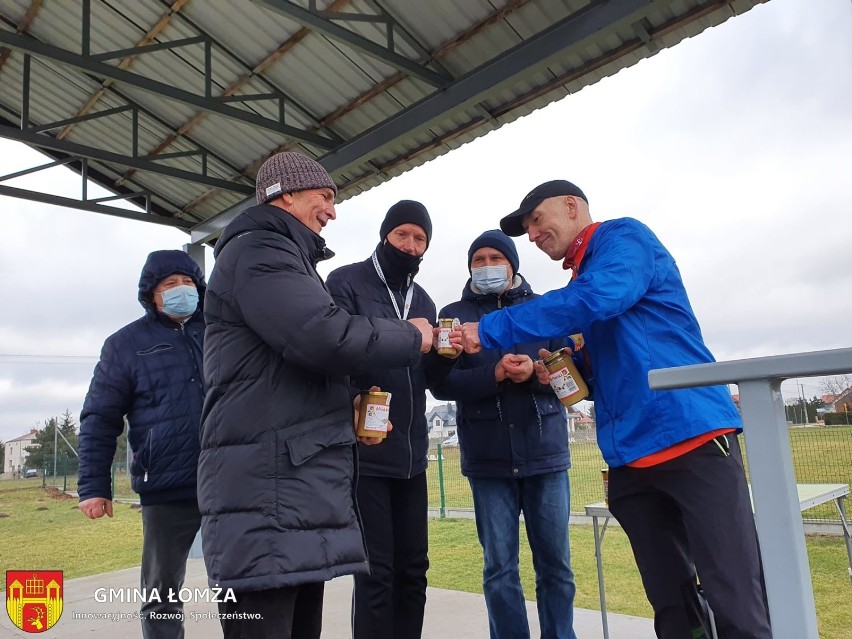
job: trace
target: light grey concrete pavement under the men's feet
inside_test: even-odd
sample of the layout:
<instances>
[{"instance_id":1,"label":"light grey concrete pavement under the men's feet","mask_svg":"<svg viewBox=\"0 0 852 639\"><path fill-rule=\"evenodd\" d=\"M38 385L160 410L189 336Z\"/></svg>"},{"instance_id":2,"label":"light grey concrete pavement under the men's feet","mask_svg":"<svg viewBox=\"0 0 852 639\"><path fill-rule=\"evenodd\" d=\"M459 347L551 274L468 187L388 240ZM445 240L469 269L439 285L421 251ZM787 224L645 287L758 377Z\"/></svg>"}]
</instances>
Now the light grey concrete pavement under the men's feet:
<instances>
[{"instance_id":1,"label":"light grey concrete pavement under the men's feet","mask_svg":"<svg viewBox=\"0 0 852 639\"><path fill-rule=\"evenodd\" d=\"M139 568L70 579L64 584L64 608L57 624L43 633L44 637L62 639L138 639L142 636L139 621L133 615L139 610L135 602L113 601L99 603L95 591L99 588L133 589L139 586ZM190 559L187 565L185 587L204 589L207 575L201 559ZM349 639L349 611L352 580L340 577L326 584L323 611L324 639ZM3 594L5 599L5 593ZM212 617L217 611L215 603L190 602L185 605L186 639L212 639L222 636L219 621ZM122 614L122 620L92 618L104 613ZM538 618L534 602L527 603L531 636L539 636ZM578 639L602 639L601 615L597 610L576 610L574 629ZM651 619L628 617L610 613L611 639L654 639ZM32 637L32 633L19 630L8 615L0 614L0 637ZM454 590L429 588L426 600L426 619L423 639L486 639L488 620L482 595Z\"/></svg>"}]
</instances>

